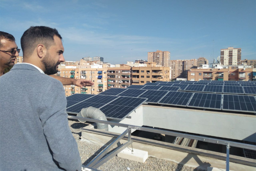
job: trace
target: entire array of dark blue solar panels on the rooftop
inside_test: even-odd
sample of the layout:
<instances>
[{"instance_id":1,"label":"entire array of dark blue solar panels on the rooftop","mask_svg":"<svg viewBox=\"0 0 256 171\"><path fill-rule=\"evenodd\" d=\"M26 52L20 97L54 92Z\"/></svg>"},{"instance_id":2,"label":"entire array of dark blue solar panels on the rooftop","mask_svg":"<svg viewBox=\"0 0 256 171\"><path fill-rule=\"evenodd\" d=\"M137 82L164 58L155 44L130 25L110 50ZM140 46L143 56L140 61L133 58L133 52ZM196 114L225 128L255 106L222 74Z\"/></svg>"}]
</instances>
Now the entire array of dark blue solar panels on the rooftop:
<instances>
[{"instance_id":1,"label":"entire array of dark blue solar panels on the rooftop","mask_svg":"<svg viewBox=\"0 0 256 171\"><path fill-rule=\"evenodd\" d=\"M238 95L241 94L241 95ZM244 95L245 94L245 95ZM67 97L67 112L77 114L92 106L108 119L123 120L138 106L161 104L211 110L256 113L256 84L238 81L175 81L111 88L99 95Z\"/></svg>"}]
</instances>

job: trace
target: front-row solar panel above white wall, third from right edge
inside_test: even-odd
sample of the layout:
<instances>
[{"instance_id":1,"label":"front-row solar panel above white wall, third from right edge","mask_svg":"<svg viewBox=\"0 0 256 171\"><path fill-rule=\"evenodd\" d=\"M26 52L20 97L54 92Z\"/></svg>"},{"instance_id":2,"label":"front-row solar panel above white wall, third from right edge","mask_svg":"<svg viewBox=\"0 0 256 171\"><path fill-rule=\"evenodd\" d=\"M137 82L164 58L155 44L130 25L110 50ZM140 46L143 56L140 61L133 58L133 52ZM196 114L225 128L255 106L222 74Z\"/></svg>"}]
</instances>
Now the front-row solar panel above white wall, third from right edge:
<instances>
[{"instance_id":1,"label":"front-row solar panel above white wall, third from right edge","mask_svg":"<svg viewBox=\"0 0 256 171\"><path fill-rule=\"evenodd\" d=\"M193 95L191 92L169 91L158 104L163 105L176 105L187 106L190 97Z\"/></svg>"}]
</instances>

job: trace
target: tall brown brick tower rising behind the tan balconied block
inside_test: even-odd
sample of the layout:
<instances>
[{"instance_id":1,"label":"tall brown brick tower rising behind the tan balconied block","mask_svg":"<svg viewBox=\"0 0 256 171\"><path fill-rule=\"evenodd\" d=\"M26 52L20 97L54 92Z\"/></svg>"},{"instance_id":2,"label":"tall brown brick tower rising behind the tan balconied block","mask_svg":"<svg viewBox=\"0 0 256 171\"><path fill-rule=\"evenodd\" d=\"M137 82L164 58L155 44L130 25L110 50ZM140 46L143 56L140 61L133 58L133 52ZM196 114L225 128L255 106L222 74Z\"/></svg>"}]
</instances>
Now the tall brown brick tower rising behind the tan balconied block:
<instances>
[{"instance_id":1,"label":"tall brown brick tower rising behind the tan balconied block","mask_svg":"<svg viewBox=\"0 0 256 171\"><path fill-rule=\"evenodd\" d=\"M170 52L169 51L156 51L148 52L148 62L156 62L161 66L169 66Z\"/></svg>"}]
</instances>

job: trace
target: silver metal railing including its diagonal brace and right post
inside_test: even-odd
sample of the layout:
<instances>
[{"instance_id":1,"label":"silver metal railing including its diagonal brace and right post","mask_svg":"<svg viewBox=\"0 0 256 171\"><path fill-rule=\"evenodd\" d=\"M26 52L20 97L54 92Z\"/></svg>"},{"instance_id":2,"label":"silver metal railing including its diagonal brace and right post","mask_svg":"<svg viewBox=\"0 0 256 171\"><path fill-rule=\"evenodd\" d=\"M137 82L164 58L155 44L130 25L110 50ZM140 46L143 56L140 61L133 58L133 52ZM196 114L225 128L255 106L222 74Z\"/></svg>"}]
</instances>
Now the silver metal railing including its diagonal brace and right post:
<instances>
[{"instance_id":1,"label":"silver metal railing including its diagonal brace and right post","mask_svg":"<svg viewBox=\"0 0 256 171\"><path fill-rule=\"evenodd\" d=\"M127 128L124 131L124 133L122 133L120 136L118 136L117 139L114 141L115 143L119 142L122 139L122 137L124 137L127 133L129 133L128 134L128 142L130 142L130 143L128 143L128 142L125 143L125 147L127 147L128 145L130 145L132 143L131 129L136 129L136 130L140 130L140 131L147 131L147 132L153 132L153 133L157 133L157 134L164 134L164 135L169 135L169 136L180 136L180 137L183 137L183 138L194 139L194 140L203 141L203 142L207 142L207 143L226 145L226 147L227 147L226 171L229 171L229 148L231 146L232 147L238 147L238 148L245 148L245 149L249 149L249 150L256 150L256 145L237 143L237 142L233 142L233 141L221 140L221 139L216 139L216 138L209 138L209 137L203 137L203 136L195 136L195 135L177 133L177 132L166 131L166 130L161 130L161 129L140 127L140 126L135 126L135 125L128 125L128 124L123 124L123 123L117 123L117 122L111 122L111 121L105 121L105 120L96 120L96 119L83 118L83 117L70 116L70 115L68 116L68 118L69 119L76 119L76 120L78 120L78 119L79 120L85 120L85 121L89 121L89 122L104 123L104 124L108 124L108 125L114 125L114 126L119 126L119 127ZM110 145L111 145L111 148L112 148L115 144L111 143ZM124 147L124 146L122 146L122 147ZM109 145L108 145L105 148L106 150L104 149L104 154L106 154L107 150L109 150L111 148L109 148ZM120 152L119 150L118 150L118 152ZM87 166L88 167L92 167L92 162L93 162L93 166L97 166L97 167L92 167L92 168L98 168L104 162L106 162L108 159L110 159L108 157L114 157L117 153L115 151L111 156L110 156L110 154L108 156L104 157L104 159L96 159L99 155L100 155L100 157L104 156L104 155L102 155L100 153ZM97 161L98 161L98 163L97 163Z\"/></svg>"}]
</instances>

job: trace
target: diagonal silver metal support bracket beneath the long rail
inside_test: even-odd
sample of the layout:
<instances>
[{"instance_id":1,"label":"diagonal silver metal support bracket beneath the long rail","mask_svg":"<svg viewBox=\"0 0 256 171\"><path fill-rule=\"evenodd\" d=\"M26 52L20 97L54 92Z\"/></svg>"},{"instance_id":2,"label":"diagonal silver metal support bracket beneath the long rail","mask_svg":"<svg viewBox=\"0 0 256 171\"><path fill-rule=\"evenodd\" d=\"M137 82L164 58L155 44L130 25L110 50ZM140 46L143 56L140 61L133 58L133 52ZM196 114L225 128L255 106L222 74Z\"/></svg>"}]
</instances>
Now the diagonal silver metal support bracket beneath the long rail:
<instances>
[{"instance_id":1,"label":"diagonal silver metal support bracket beneath the long rail","mask_svg":"<svg viewBox=\"0 0 256 171\"><path fill-rule=\"evenodd\" d=\"M117 147L113 152L110 152L108 155L108 151L114 147L126 134L128 133L128 141L121 146ZM130 144L132 144L131 139L131 128L127 128L120 136L118 136L112 143L110 143L106 148L102 150L90 163L88 163L87 167L92 168L98 168L102 164L104 164L106 161L114 157L116 154L124 150L126 147L128 147ZM105 156L106 155L106 156ZM105 156L105 157L103 157ZM103 158L102 158L103 157Z\"/></svg>"}]
</instances>

